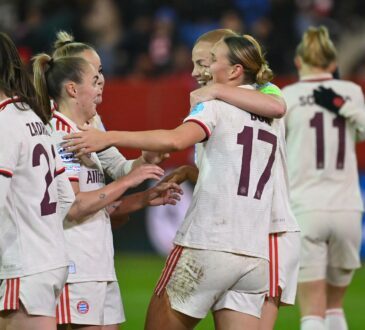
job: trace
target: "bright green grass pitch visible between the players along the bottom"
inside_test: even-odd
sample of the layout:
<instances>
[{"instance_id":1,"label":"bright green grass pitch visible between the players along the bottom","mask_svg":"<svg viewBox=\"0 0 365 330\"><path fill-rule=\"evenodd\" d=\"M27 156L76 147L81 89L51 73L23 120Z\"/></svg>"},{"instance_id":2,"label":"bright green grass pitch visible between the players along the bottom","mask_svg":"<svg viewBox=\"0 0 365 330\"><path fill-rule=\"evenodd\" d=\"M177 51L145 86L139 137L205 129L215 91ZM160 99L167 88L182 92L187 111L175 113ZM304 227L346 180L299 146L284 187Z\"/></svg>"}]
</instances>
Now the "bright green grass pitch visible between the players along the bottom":
<instances>
[{"instance_id":1,"label":"bright green grass pitch visible between the players along the bottom","mask_svg":"<svg viewBox=\"0 0 365 330\"><path fill-rule=\"evenodd\" d=\"M117 255L115 267L122 292L127 322L123 330L142 330L149 299L164 265L164 258L155 255ZM347 292L345 312L350 330L365 329L365 266L356 275ZM211 330L209 315L196 327ZM276 330L299 329L297 306L280 309Z\"/></svg>"}]
</instances>

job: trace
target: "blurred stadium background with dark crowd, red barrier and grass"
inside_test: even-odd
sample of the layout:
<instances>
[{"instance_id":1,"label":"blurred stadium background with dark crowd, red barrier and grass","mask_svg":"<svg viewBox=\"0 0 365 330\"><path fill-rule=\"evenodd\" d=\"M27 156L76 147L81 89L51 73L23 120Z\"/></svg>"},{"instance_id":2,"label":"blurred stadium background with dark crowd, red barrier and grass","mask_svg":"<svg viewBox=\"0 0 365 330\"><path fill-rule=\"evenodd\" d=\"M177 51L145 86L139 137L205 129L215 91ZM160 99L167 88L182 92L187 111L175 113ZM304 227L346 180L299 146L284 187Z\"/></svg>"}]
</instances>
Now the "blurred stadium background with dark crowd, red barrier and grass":
<instances>
[{"instance_id":1,"label":"blurred stadium background with dark crowd, red barrier and grass","mask_svg":"<svg viewBox=\"0 0 365 330\"><path fill-rule=\"evenodd\" d=\"M197 87L190 76L192 46L198 36L215 28L252 34L267 52L274 83L283 87L294 82L295 47L310 25L328 27L339 52L341 77L365 89L365 1L361 0L0 0L0 30L12 37L29 67L32 56L51 50L59 30L96 49L107 80L98 112L109 130L180 124L190 109L189 93ZM127 158L140 154L122 152ZM192 162L193 151L187 150L173 154L162 167L168 171ZM364 144L358 145L358 163L365 198ZM168 253L192 189L184 186L184 198L177 206L141 210L114 230L117 272L131 320L124 329L143 327L149 296L163 266L156 255ZM365 236L363 242L365 259ZM354 317L351 329L363 329L365 324L363 313L356 309L365 294L364 275L363 267L348 298L347 308ZM295 328L287 322L297 324L298 318L296 309L288 309L277 329ZM211 328L209 319L198 327Z\"/></svg>"}]
</instances>

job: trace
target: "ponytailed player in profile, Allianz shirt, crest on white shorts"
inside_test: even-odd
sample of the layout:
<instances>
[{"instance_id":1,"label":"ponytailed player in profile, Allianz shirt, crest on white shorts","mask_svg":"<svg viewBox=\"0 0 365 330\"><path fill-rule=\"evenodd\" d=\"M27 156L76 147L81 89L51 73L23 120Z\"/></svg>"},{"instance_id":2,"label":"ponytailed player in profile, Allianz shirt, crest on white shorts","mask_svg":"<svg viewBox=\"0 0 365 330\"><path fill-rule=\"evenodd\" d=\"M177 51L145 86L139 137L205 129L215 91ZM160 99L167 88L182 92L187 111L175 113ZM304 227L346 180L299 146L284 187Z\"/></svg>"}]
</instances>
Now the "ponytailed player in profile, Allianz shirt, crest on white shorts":
<instances>
[{"instance_id":1,"label":"ponytailed player in profile, Allianz shirt, crest on white shorts","mask_svg":"<svg viewBox=\"0 0 365 330\"><path fill-rule=\"evenodd\" d=\"M156 165L142 165L105 185L95 153L79 160L63 148L62 136L77 131L77 124L83 125L95 116L96 100L101 93L98 79L95 68L80 57L54 60L41 54L34 61L34 81L43 107L50 111L50 97L57 103L52 134L76 194L76 212L71 209L64 221L70 262L57 319L59 324L65 325L60 328L65 329L70 324L72 329L112 330L118 329L118 324L124 321L114 271L110 219L104 208L118 200L128 188L145 179L158 180L163 175L163 170ZM177 188L176 185L166 187Z\"/></svg>"}]
</instances>

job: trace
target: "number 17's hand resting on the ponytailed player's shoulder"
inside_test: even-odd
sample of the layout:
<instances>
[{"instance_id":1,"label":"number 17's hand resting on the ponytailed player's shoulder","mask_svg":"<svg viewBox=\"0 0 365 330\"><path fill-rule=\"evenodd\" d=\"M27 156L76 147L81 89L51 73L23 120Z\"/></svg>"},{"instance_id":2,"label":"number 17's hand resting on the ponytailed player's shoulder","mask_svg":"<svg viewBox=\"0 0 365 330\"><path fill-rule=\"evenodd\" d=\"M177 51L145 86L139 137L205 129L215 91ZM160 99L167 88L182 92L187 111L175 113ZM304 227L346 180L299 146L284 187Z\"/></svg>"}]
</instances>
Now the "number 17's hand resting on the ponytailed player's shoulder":
<instances>
[{"instance_id":1,"label":"number 17's hand resting on the ponytailed player's shoulder","mask_svg":"<svg viewBox=\"0 0 365 330\"><path fill-rule=\"evenodd\" d=\"M76 156L100 151L109 147L107 132L100 131L90 126L78 126L80 132L71 133L63 137L67 141L65 147L68 151L75 151Z\"/></svg>"}]
</instances>

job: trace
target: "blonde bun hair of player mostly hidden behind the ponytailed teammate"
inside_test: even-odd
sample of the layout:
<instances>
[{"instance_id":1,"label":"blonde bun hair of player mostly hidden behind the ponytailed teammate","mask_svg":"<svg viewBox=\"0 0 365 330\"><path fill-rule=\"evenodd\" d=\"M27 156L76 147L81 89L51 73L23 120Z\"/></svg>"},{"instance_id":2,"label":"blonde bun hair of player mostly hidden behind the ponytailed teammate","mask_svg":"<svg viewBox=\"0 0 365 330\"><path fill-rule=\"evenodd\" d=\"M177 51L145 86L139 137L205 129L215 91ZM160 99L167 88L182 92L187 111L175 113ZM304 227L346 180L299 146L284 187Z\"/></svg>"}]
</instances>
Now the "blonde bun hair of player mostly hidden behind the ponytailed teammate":
<instances>
[{"instance_id":1,"label":"blonde bun hair of player mostly hidden behind the ponytailed teammate","mask_svg":"<svg viewBox=\"0 0 365 330\"><path fill-rule=\"evenodd\" d=\"M94 50L94 48L83 42L76 42L74 36L66 31L58 31L56 41L53 43L52 57L56 59L77 56L85 50Z\"/></svg>"}]
</instances>

